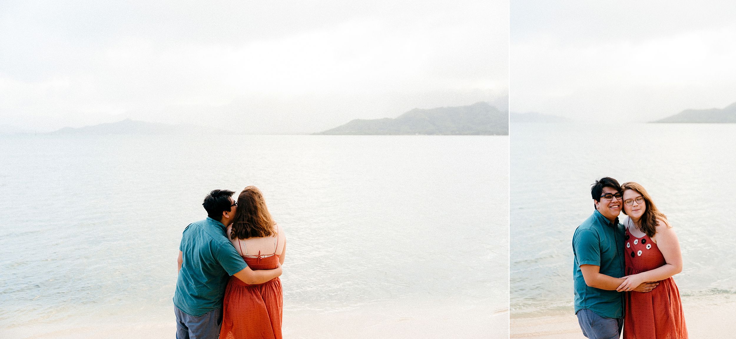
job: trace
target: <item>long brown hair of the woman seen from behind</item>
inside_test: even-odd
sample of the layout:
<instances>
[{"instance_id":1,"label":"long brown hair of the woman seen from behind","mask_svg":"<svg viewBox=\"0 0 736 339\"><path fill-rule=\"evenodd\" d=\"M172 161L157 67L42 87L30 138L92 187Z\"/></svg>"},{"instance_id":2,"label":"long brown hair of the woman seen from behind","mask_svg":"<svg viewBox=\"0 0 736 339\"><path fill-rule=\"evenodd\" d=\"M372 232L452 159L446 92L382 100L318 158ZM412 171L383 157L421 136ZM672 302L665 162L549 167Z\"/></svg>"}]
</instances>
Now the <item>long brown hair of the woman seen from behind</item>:
<instances>
[{"instance_id":1,"label":"long brown hair of the woman seen from behind","mask_svg":"<svg viewBox=\"0 0 736 339\"><path fill-rule=\"evenodd\" d=\"M275 234L275 222L266 207L261 190L255 186L244 188L238 196L238 210L230 238L261 238Z\"/></svg>"}]
</instances>

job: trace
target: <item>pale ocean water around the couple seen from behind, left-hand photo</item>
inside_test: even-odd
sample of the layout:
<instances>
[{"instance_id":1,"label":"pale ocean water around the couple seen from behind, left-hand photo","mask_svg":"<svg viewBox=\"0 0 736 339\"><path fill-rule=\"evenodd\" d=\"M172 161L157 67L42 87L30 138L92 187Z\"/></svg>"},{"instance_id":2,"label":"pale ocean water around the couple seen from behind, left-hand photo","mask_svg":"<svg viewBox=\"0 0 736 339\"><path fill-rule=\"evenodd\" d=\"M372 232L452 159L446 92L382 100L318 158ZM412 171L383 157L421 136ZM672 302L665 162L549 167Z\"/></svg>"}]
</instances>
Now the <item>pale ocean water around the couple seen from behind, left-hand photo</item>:
<instances>
[{"instance_id":1,"label":"pale ocean water around the couple seen from behind, left-hand photo","mask_svg":"<svg viewBox=\"0 0 736 339\"><path fill-rule=\"evenodd\" d=\"M287 310L504 310L508 149L504 136L1 136L0 324L172 320L181 232L210 190L247 185L286 230Z\"/></svg>"}]
</instances>

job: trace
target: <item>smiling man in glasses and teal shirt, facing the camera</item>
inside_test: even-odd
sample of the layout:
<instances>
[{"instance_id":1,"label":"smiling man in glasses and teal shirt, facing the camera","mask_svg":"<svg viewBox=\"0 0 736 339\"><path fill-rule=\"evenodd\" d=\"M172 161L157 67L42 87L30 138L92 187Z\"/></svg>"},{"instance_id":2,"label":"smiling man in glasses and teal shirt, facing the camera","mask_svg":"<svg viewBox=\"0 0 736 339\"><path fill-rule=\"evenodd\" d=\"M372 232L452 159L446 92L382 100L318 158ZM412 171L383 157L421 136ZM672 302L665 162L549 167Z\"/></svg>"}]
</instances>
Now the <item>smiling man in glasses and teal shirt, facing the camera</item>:
<instances>
[{"instance_id":1,"label":"smiling man in glasses and teal shirt, facing the camera","mask_svg":"<svg viewBox=\"0 0 736 339\"><path fill-rule=\"evenodd\" d=\"M575 313L583 335L590 339L618 339L623 326L623 238L619 224L621 185L605 177L592 185L595 210L573 235ZM636 289L648 292L659 282L645 282Z\"/></svg>"}]
</instances>

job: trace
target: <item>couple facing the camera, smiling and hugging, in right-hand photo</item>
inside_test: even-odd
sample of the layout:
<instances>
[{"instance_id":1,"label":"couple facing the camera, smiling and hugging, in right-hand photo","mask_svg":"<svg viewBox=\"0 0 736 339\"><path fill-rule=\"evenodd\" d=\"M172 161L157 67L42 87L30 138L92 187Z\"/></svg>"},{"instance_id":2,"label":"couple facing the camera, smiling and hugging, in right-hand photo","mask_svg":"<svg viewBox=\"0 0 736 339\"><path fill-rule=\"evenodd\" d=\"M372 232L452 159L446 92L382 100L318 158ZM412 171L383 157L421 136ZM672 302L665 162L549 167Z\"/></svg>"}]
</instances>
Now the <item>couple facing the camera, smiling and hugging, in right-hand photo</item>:
<instances>
[{"instance_id":1,"label":"couple facing the camera, smiling and hugging, in right-hand photo","mask_svg":"<svg viewBox=\"0 0 736 339\"><path fill-rule=\"evenodd\" d=\"M605 177L591 188L595 211L575 230L575 313L590 339L687 339L679 290L679 241L636 182ZM622 210L623 209L623 210ZM628 218L619 221L619 213Z\"/></svg>"}]
</instances>

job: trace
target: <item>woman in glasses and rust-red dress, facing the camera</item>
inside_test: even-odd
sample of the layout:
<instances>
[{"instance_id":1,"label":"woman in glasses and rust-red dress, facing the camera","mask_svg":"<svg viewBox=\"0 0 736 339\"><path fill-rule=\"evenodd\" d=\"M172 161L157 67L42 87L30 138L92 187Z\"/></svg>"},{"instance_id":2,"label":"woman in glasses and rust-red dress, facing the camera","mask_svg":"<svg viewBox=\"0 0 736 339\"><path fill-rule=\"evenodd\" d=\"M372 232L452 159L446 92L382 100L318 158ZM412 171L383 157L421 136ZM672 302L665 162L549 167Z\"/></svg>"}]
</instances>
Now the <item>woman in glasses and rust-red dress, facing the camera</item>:
<instances>
[{"instance_id":1,"label":"woman in glasses and rust-red dress, facing the camera","mask_svg":"<svg viewBox=\"0 0 736 339\"><path fill-rule=\"evenodd\" d=\"M626 293L624 339L686 339L680 293L672 276L682 271L682 254L667 216L657 210L642 185L626 182L623 213L626 240L626 279L618 291ZM634 291L642 282L659 281L651 292Z\"/></svg>"}]
</instances>

